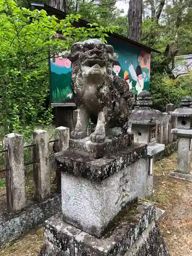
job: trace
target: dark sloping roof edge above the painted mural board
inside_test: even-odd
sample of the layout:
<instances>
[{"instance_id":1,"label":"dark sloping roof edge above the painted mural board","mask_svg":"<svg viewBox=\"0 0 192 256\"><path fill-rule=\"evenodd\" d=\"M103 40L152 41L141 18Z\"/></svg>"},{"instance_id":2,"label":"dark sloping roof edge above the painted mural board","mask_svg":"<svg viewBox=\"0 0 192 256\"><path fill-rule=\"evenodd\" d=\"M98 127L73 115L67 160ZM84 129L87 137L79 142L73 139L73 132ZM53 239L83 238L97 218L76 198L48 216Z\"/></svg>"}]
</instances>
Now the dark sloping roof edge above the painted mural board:
<instances>
[{"instance_id":1,"label":"dark sloping roof edge above the painted mural board","mask_svg":"<svg viewBox=\"0 0 192 256\"><path fill-rule=\"evenodd\" d=\"M52 11L55 15L56 15L56 14L59 14L59 15L61 15L61 16L66 16L66 15L69 14L69 13L67 13L67 12L63 12L63 11L61 11L61 10L58 10L58 9L56 9L56 8L53 8L53 7L51 7L51 6L47 5L47 4L44 4L44 3L31 3L31 6L32 6L32 7L40 7L41 9L44 8L45 10ZM82 23L82 24L84 24L84 25L87 25L89 22L88 22L87 20L84 20L84 19L79 18L79 23ZM145 46L145 45L143 45L143 44L140 44L140 42L136 42L136 41L134 41L134 40L131 40L131 39L129 39L129 38L126 38L126 37L124 37L124 36L121 36L121 35L119 35L119 34L117 34L117 33L108 33L108 34L111 35L111 36L113 36L113 37L120 38L121 40L123 40L123 41L125 41L125 42L129 42L129 44L135 45L135 46L140 47L140 48L144 48L146 51L161 53L161 52L159 52L159 51L157 51L157 50L155 50L155 49L153 49L153 48L151 48L151 47L148 47L148 46Z\"/></svg>"}]
</instances>

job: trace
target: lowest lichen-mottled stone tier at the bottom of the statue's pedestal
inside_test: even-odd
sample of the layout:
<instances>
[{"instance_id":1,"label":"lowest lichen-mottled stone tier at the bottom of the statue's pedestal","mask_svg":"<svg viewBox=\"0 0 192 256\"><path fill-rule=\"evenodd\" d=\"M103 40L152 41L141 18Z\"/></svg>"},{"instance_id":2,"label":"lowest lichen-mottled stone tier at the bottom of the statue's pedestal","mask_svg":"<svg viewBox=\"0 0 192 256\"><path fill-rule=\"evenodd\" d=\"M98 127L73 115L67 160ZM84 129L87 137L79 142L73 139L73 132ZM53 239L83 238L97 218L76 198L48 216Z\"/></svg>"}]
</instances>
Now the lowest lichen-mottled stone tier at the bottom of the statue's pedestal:
<instances>
[{"instance_id":1,"label":"lowest lichen-mottled stone tier at the bottom of the statue's pedestal","mask_svg":"<svg viewBox=\"0 0 192 256\"><path fill-rule=\"evenodd\" d=\"M45 222L39 256L169 256L155 218L153 205L138 203L123 210L97 239L56 215Z\"/></svg>"}]
</instances>

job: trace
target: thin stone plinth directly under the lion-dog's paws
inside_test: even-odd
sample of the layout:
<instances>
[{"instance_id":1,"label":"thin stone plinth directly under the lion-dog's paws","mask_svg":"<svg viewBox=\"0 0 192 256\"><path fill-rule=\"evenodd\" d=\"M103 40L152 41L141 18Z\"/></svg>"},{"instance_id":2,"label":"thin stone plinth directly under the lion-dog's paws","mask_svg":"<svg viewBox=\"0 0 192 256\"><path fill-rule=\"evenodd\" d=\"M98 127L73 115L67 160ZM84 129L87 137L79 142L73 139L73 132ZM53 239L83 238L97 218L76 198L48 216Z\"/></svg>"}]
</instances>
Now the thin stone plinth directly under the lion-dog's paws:
<instances>
[{"instance_id":1,"label":"thin stone plinth directly under the lion-dog's paws","mask_svg":"<svg viewBox=\"0 0 192 256\"><path fill-rule=\"evenodd\" d=\"M119 137L107 136L102 143L92 142L90 137L86 137L79 140L70 139L70 152L81 156L100 158L132 145L132 134L125 134Z\"/></svg>"}]
</instances>

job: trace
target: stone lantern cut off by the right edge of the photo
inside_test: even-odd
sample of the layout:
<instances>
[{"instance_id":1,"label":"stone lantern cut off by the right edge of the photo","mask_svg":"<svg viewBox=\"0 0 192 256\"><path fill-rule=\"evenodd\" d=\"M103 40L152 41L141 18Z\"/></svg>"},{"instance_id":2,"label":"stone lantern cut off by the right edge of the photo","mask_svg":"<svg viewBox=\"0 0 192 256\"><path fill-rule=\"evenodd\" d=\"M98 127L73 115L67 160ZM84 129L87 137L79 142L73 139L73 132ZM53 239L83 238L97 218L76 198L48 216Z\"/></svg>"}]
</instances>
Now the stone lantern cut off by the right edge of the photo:
<instances>
[{"instance_id":1,"label":"stone lantern cut off by the right edge of the photo","mask_svg":"<svg viewBox=\"0 0 192 256\"><path fill-rule=\"evenodd\" d=\"M191 97L185 96L181 100L181 108L170 112L177 117L177 127L172 133L178 136L177 169L169 176L192 182L190 173L191 138L192 138L192 108Z\"/></svg>"}]
</instances>

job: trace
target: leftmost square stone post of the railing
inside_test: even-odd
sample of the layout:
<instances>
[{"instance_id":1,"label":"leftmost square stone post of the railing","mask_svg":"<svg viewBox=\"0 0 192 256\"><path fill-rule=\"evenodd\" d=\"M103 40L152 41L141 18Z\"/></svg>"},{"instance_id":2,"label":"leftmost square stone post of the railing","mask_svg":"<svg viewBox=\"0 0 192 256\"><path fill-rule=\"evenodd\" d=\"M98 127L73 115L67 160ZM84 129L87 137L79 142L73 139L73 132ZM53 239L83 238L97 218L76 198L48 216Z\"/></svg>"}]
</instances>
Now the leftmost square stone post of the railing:
<instances>
[{"instance_id":1,"label":"leftmost square stone post of the railing","mask_svg":"<svg viewBox=\"0 0 192 256\"><path fill-rule=\"evenodd\" d=\"M25 166L23 136L11 133L4 138L6 160L7 209L11 213L25 207Z\"/></svg>"}]
</instances>

